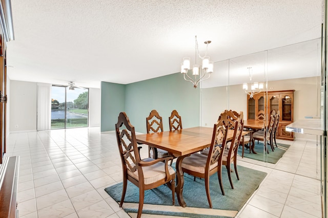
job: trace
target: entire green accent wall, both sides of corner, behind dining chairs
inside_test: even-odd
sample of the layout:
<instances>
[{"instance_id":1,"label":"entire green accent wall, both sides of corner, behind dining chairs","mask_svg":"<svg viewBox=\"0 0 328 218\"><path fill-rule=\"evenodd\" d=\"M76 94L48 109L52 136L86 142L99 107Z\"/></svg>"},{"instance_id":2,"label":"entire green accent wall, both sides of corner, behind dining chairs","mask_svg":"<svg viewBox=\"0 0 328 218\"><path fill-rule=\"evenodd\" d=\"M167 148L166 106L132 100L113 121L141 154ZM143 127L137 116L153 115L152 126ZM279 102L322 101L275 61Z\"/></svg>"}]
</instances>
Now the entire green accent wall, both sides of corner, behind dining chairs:
<instances>
[{"instance_id":1,"label":"entire green accent wall, both sides of corner, behind dining chairs","mask_svg":"<svg viewBox=\"0 0 328 218\"><path fill-rule=\"evenodd\" d=\"M121 85L125 86L125 92L121 90L121 86L113 84L101 82L101 132L114 130L114 124L121 111L127 113L135 131L139 133L146 133L146 117L154 109L163 119L164 130L169 130L169 116L173 110L177 110L181 116L183 128L200 125L200 90L194 89L193 84L185 81L180 73ZM111 89L107 86L111 86ZM111 97L107 92L121 92L120 96L125 93L125 97L121 98L125 99L125 107L120 107L120 111L117 108L110 108L110 102L117 102L118 99ZM108 124L109 122L111 124Z\"/></svg>"}]
</instances>

